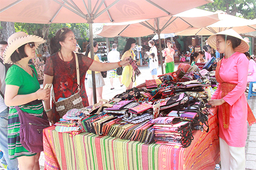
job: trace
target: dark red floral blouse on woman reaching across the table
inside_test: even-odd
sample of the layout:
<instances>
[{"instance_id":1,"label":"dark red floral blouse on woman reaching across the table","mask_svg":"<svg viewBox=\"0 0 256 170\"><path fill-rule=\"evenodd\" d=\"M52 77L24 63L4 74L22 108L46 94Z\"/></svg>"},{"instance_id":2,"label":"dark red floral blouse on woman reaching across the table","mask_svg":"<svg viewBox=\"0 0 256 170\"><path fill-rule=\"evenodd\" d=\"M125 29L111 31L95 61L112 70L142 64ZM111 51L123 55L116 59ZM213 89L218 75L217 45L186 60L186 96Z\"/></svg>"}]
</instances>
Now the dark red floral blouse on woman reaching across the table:
<instances>
[{"instance_id":1,"label":"dark red floral blouse on woman reaching across the table","mask_svg":"<svg viewBox=\"0 0 256 170\"><path fill-rule=\"evenodd\" d=\"M86 90L85 90L85 75L91 63L94 61L83 54L77 54L80 74L80 97L83 99L84 107L89 106ZM77 93L77 76L76 76L76 60L73 54L71 61L63 61L58 53L53 54L46 60L44 66L44 74L53 76L53 90L55 101L59 98L67 98ZM52 104L54 106L54 104ZM55 108L53 110L53 121L60 120L59 114Z\"/></svg>"}]
</instances>

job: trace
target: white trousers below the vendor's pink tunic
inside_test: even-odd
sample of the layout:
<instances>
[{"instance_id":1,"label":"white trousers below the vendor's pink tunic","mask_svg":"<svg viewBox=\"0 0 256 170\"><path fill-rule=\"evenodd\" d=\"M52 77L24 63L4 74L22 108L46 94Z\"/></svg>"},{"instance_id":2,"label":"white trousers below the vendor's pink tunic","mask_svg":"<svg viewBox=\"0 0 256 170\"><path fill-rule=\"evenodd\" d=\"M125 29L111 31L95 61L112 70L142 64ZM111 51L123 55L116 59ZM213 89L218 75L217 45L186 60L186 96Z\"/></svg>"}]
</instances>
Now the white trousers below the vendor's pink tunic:
<instances>
[{"instance_id":1,"label":"white trousers below the vendor's pink tunic","mask_svg":"<svg viewBox=\"0 0 256 170\"><path fill-rule=\"evenodd\" d=\"M222 170L243 170L246 168L245 147L230 147L219 138L220 161Z\"/></svg>"}]
</instances>

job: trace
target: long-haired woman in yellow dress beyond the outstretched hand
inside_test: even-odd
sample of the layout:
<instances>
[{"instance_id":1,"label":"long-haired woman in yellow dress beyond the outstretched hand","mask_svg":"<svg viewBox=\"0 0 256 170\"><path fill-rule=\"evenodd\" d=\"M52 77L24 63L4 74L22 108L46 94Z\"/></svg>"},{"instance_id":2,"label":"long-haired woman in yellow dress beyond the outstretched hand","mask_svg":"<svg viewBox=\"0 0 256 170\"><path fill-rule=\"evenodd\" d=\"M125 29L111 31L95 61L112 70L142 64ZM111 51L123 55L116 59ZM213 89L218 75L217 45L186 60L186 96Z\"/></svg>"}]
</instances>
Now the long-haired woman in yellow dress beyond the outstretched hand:
<instances>
[{"instance_id":1,"label":"long-haired woman in yellow dress beyond the outstretched hand","mask_svg":"<svg viewBox=\"0 0 256 170\"><path fill-rule=\"evenodd\" d=\"M135 54L132 50L132 48L135 47L136 40L134 38L129 38L124 46L123 55L121 60L123 60L126 57L132 57L132 59L135 59ZM125 89L131 89L133 87L134 79L134 71L131 66L131 64L125 66L123 68L122 72L122 83L125 85Z\"/></svg>"}]
</instances>

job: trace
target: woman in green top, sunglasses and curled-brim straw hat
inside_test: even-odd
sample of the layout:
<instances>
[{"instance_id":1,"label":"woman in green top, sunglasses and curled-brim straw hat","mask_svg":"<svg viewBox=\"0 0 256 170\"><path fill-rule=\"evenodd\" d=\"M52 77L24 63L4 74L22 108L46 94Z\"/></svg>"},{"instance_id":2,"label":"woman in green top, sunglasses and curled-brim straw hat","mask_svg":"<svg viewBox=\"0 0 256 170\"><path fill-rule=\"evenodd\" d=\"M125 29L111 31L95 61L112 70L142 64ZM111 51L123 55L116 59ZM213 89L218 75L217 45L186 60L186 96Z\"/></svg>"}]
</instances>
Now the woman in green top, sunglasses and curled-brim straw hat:
<instances>
[{"instance_id":1,"label":"woman in green top, sunglasses and curled-brim straw hat","mask_svg":"<svg viewBox=\"0 0 256 170\"><path fill-rule=\"evenodd\" d=\"M49 100L50 89L40 88L36 69L28 65L28 61L36 55L36 48L42 43L44 40L41 37L17 32L8 38L8 46L4 52L4 62L14 63L9 68L5 80L5 103L9 106L9 159L18 158L21 170L40 169L40 153L31 153L20 143L20 122L15 106L34 116L43 115L42 100Z\"/></svg>"}]
</instances>

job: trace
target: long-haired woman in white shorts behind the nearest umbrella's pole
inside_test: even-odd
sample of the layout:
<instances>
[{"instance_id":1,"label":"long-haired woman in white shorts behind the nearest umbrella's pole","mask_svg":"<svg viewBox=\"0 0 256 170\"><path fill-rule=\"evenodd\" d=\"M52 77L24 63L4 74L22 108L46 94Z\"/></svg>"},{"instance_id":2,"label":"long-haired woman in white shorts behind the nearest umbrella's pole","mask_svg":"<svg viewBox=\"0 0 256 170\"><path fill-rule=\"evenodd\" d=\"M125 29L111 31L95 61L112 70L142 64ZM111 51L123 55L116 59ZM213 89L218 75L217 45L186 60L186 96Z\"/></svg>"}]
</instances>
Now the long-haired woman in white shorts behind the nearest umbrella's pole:
<instances>
[{"instance_id":1,"label":"long-haired woman in white shorts behind the nearest umbrella's pole","mask_svg":"<svg viewBox=\"0 0 256 170\"><path fill-rule=\"evenodd\" d=\"M98 43L96 41L94 41L94 53L96 53L97 50L98 50ZM88 44L87 47L86 47L85 56L88 56L89 58L91 57L91 55L90 55L90 44ZM100 62L99 57L97 55L94 56L94 60ZM89 87L88 101L89 101L89 105L91 106L93 104L93 102L92 102L93 92L92 92L91 70L88 70L87 74L88 74L87 84L88 84L88 87ZM95 83L96 83L97 102L99 102L99 100L102 99L103 86L105 85L105 82L103 80L103 77L102 77L100 71L95 72Z\"/></svg>"}]
</instances>

